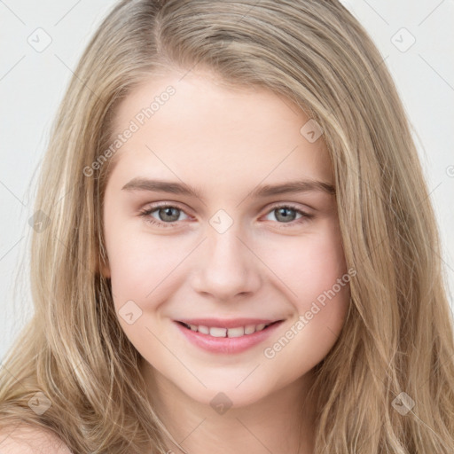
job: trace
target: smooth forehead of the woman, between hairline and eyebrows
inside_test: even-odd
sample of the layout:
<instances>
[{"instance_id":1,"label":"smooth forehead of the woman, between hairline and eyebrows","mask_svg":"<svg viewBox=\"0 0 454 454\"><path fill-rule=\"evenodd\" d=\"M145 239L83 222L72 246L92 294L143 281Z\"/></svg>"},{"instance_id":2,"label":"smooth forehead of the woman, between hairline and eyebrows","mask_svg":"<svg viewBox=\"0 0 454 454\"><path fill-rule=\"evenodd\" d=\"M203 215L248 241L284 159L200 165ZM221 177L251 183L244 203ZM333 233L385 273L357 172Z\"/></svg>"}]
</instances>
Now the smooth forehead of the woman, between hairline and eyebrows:
<instances>
[{"instance_id":1,"label":"smooth forehead of the woman, between hairline and eyebrows","mask_svg":"<svg viewBox=\"0 0 454 454\"><path fill-rule=\"evenodd\" d=\"M150 77L117 107L114 136L128 138L114 154L113 173L165 174L202 186L204 178L331 183L323 135L309 140L308 121L289 99L262 87L233 88L207 73Z\"/></svg>"}]
</instances>

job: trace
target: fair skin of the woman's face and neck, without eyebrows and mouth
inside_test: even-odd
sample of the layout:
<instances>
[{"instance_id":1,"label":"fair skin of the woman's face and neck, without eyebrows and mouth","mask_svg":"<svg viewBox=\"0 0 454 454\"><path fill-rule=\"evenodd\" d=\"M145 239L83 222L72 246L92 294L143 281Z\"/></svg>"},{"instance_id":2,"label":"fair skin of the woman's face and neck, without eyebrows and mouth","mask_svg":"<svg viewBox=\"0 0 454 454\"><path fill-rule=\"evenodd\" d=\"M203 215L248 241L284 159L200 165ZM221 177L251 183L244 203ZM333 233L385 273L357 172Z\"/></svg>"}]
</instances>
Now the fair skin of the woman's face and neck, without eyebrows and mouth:
<instances>
[{"instance_id":1,"label":"fair skin of the woman's face and neck, without eyebrows and mouth","mask_svg":"<svg viewBox=\"0 0 454 454\"><path fill-rule=\"evenodd\" d=\"M176 90L114 155L102 272L111 278L117 313L126 301L142 311L130 325L119 320L144 358L150 399L180 442L178 448L168 441L169 450L308 454L312 370L339 336L348 285L276 356L263 351L347 272L336 200L322 191L248 195L263 184L333 184L323 136L310 143L300 133L309 117L269 90L232 90L208 72L181 75L150 78L118 107L115 129L121 132L168 85ZM137 176L190 184L202 199L121 189ZM140 211L158 202L181 209L176 221L155 207L148 219L164 225L146 222ZM288 225L277 210L286 204L312 217L299 223L301 214L291 209ZM233 222L223 233L209 223L219 209ZM225 355L185 339L174 320L189 317L284 322L258 346ZM223 414L210 405L220 392L232 403Z\"/></svg>"}]
</instances>

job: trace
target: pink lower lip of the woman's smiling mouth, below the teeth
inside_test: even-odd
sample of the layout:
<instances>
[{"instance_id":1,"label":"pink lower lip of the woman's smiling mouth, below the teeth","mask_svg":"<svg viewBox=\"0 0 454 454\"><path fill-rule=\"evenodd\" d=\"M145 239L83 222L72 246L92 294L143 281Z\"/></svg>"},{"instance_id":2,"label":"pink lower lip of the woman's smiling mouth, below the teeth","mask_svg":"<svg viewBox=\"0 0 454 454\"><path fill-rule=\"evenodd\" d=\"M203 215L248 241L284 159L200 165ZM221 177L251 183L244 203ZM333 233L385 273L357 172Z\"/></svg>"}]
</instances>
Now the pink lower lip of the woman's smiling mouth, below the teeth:
<instances>
[{"instance_id":1,"label":"pink lower lip of the woman's smiling mouth, below the teeth","mask_svg":"<svg viewBox=\"0 0 454 454\"><path fill-rule=\"evenodd\" d=\"M270 325L262 331L255 332L253 334L245 334L239 337L214 337L209 334L202 334L197 331L192 331L185 328L183 325L175 322L178 329L186 336L192 344L197 347L203 348L213 353L224 353L233 355L241 353L248 348L254 347L263 340L266 340L272 333L276 331L282 321Z\"/></svg>"}]
</instances>

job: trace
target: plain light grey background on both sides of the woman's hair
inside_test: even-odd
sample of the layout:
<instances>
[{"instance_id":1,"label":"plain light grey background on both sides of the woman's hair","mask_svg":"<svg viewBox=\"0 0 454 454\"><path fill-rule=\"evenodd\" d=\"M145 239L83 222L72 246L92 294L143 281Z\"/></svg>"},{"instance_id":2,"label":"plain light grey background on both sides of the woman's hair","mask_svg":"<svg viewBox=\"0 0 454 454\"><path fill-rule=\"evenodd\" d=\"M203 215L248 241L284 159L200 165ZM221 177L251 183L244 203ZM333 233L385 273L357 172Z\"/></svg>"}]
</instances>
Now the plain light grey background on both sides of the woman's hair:
<instances>
[{"instance_id":1,"label":"plain light grey background on both sides of the woman's hair","mask_svg":"<svg viewBox=\"0 0 454 454\"><path fill-rule=\"evenodd\" d=\"M0 358L32 313L27 253L35 170L43 158L51 121L76 62L114 3L0 0ZM386 58L415 130L442 234L442 259L451 293L454 2L342 0L342 3L372 35ZM36 31L38 28L43 30ZM41 49L50 39L48 47ZM413 40L415 43L406 49ZM14 287L16 278L20 280ZM450 302L453 306L451 296Z\"/></svg>"}]
</instances>

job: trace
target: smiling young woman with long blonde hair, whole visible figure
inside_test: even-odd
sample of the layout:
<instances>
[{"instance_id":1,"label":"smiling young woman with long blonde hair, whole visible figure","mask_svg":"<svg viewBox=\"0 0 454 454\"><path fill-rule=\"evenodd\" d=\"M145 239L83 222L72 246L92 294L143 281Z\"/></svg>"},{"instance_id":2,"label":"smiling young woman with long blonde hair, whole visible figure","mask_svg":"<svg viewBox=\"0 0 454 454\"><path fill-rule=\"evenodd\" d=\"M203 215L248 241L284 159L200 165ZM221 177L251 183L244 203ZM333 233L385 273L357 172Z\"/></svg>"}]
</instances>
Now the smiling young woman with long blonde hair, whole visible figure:
<instances>
[{"instance_id":1,"label":"smiling young woman with long blonde hair, whole visible figure","mask_svg":"<svg viewBox=\"0 0 454 454\"><path fill-rule=\"evenodd\" d=\"M434 213L351 14L122 1L74 73L0 450L453 452Z\"/></svg>"}]
</instances>

